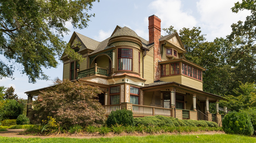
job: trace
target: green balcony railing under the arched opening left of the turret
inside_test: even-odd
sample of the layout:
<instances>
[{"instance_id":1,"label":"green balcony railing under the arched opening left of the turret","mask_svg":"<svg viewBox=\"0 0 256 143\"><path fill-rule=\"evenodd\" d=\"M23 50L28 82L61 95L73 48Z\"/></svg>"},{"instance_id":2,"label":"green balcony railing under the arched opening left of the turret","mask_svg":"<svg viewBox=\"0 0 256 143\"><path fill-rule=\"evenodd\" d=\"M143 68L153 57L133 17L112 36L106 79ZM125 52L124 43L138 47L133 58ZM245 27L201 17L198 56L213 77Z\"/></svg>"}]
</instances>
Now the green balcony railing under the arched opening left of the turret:
<instances>
[{"instance_id":1,"label":"green balcony railing under the arched opening left of the turret","mask_svg":"<svg viewBox=\"0 0 256 143\"><path fill-rule=\"evenodd\" d=\"M93 75L93 74L101 74L101 75L108 76L108 69L99 68L97 67L97 64L95 64L94 68L78 71L77 79L86 77L88 75Z\"/></svg>"}]
</instances>

